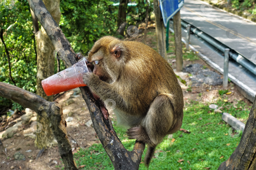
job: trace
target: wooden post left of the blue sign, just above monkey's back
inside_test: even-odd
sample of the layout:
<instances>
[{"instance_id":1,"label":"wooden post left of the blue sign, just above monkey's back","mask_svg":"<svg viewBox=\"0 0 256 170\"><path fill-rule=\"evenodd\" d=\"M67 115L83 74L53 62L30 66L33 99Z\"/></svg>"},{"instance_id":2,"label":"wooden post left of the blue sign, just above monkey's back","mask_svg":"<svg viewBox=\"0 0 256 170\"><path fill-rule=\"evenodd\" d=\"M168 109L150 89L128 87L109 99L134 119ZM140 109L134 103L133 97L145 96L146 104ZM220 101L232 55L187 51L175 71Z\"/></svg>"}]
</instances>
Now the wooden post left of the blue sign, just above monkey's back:
<instances>
[{"instance_id":1,"label":"wooden post left of the blue sign, just above monkey's back","mask_svg":"<svg viewBox=\"0 0 256 170\"><path fill-rule=\"evenodd\" d=\"M163 21L161 21L161 10L158 0L154 0L154 12L155 12L155 31L156 31L156 41L157 41L157 51L158 53L166 59L166 47L165 47L165 29L163 26Z\"/></svg>"}]
</instances>

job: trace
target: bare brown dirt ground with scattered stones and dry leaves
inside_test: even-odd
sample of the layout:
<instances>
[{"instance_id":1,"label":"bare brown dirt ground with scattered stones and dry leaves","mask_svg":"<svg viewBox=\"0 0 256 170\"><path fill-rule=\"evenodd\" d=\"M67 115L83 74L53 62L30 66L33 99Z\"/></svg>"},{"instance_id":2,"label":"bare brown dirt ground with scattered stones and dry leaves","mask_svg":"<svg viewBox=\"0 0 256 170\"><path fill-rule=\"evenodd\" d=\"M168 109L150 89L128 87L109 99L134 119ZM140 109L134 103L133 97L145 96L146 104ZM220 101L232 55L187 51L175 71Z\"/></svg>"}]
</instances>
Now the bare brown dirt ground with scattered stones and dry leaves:
<instances>
[{"instance_id":1,"label":"bare brown dirt ground with scattered stones and dry leaves","mask_svg":"<svg viewBox=\"0 0 256 170\"><path fill-rule=\"evenodd\" d=\"M153 25L154 26L154 25ZM155 32L154 29L149 29L149 32ZM156 44L152 44L151 41L154 37L148 37L146 44L151 46L152 48L156 48ZM136 38L131 37L131 40L142 41L143 35L140 34ZM173 64L173 68L175 70L175 62L173 63L173 59L168 59L168 62ZM204 63L201 59L195 61L184 61L184 66L199 63L210 70L214 71L214 69L210 68L207 64ZM189 82L188 73L177 73L182 79ZM191 92L187 91L187 86L180 83L183 90L184 102L189 103L190 100L198 100L203 103L211 103L218 99L219 94L218 90L222 88L222 86L209 86L207 84L203 84L200 87L192 88ZM248 105L252 105L247 99L245 99L235 88L234 85L229 84L230 91L232 92L229 95L229 102L237 102L237 100L243 100L248 103ZM55 101L60 104L63 104L63 113L64 117L68 117L70 112L74 114L72 117L74 118L71 122L67 122L67 133L70 139L70 143L72 145L73 151L76 152L77 147L86 148L91 146L94 143L100 143L97 139L96 133L93 127L87 127L85 124L90 120L90 115L88 108L82 99L81 93L73 95L74 91L70 90L65 92L60 97L58 97ZM199 97L199 93L201 93L201 97ZM225 95L225 94L224 94ZM67 100L71 97L75 102L66 105ZM112 117L112 116L111 116ZM17 133L14 134L14 137L10 139L2 139L2 144L0 142L0 169L59 169L56 166L63 166L62 161L60 160L60 156L58 153L58 147L53 147L50 149L46 149L42 155L36 159L39 150L34 147L34 139L24 136L24 134L31 133L30 126L22 126L19 127ZM31 150L31 151L30 151ZM14 153L21 152L25 155L25 161L23 160L15 160ZM27 151L27 152L26 152ZM30 152L29 152L30 151Z\"/></svg>"}]
</instances>

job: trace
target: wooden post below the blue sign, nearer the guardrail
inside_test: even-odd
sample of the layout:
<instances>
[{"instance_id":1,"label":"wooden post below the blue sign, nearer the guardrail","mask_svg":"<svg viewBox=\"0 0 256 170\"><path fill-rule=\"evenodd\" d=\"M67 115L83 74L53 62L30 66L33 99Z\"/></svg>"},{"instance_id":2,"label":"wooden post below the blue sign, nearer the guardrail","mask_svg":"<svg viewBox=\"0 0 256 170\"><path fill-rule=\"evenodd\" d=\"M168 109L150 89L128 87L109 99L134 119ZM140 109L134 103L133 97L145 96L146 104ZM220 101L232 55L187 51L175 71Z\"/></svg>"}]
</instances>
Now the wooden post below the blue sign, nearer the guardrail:
<instances>
[{"instance_id":1,"label":"wooden post below the blue sign, nearer the guardrail","mask_svg":"<svg viewBox=\"0 0 256 170\"><path fill-rule=\"evenodd\" d=\"M174 39L175 39L176 70L182 71L183 59L182 59L180 11L178 11L173 16L173 28L174 28Z\"/></svg>"}]
</instances>

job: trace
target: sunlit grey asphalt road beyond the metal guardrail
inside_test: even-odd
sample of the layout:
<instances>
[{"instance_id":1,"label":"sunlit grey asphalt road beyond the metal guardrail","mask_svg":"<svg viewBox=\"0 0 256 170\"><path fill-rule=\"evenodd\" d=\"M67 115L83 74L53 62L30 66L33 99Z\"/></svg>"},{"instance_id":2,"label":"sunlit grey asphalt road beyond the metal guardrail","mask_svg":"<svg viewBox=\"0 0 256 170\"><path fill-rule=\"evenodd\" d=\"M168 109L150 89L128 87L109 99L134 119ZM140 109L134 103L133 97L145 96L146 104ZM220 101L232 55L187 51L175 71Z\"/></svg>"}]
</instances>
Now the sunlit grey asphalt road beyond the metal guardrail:
<instances>
[{"instance_id":1,"label":"sunlit grey asphalt road beyond the metal guardrail","mask_svg":"<svg viewBox=\"0 0 256 170\"><path fill-rule=\"evenodd\" d=\"M213 8L199 0L186 0L180 13L181 19L256 63L256 23Z\"/></svg>"}]
</instances>

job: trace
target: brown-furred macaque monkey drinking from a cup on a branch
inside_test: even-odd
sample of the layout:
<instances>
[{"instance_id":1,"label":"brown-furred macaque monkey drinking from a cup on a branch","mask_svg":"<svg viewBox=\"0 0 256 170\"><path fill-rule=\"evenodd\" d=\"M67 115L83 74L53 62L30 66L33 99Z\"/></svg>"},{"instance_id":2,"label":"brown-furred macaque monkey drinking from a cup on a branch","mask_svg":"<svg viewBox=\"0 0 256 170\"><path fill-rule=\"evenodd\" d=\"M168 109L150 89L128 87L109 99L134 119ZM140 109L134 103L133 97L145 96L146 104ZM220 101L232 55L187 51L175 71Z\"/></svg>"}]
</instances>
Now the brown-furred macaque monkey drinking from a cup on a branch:
<instances>
[{"instance_id":1,"label":"brown-furred macaque monkey drinking from a cup on a branch","mask_svg":"<svg viewBox=\"0 0 256 170\"><path fill-rule=\"evenodd\" d=\"M183 94L173 69L149 46L111 36L94 43L88 61L94 69L83 81L101 100L115 101L113 112L129 127L129 139L148 144L148 167L156 145L182 124Z\"/></svg>"}]
</instances>

